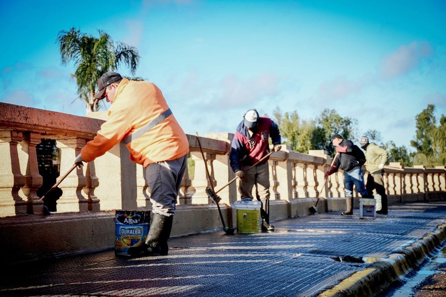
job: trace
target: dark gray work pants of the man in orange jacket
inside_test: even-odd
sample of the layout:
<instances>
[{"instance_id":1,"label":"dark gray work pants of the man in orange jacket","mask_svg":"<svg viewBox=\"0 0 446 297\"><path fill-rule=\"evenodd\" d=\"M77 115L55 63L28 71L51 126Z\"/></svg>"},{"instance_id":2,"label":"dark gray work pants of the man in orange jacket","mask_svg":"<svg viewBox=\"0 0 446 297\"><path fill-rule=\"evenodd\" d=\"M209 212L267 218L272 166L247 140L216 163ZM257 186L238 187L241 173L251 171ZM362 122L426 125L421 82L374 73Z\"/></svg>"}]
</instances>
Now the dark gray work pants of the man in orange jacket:
<instances>
[{"instance_id":1,"label":"dark gray work pants of the man in orange jacket","mask_svg":"<svg viewBox=\"0 0 446 297\"><path fill-rule=\"evenodd\" d=\"M145 168L154 214L173 216L186 168L187 155L176 160L152 163Z\"/></svg>"}]
</instances>

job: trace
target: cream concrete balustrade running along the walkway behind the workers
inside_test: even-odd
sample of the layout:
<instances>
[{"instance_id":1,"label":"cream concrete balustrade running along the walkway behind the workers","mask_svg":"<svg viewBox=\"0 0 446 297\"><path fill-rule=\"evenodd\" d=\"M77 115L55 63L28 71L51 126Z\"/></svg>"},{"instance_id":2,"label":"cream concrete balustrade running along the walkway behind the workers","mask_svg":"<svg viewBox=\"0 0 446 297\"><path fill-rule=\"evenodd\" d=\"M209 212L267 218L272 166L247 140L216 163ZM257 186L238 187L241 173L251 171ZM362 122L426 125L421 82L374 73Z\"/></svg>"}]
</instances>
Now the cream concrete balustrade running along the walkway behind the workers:
<instances>
[{"instance_id":1,"label":"cream concrete balustrade running along the walkway behind the workers","mask_svg":"<svg viewBox=\"0 0 446 297\"><path fill-rule=\"evenodd\" d=\"M0 103L0 110L0 154L3 156L0 159L0 236L4 239L5 253L13 255L10 261L112 248L115 211L150 210L145 170L129 160L127 148L120 143L95 161L72 171L59 186L63 194L57 201L57 212L43 216L43 204L36 194L42 185L36 145L42 138L56 140L63 175L85 143L94 138L107 114L78 117L6 103ZM229 167L233 134L207 133L205 136L200 138L206 159L203 160L195 135L187 135L190 158L195 163L194 177L186 172L183 178L172 236L222 229L218 209L208 198L206 187L212 183L218 190L235 178ZM319 212L343 210L343 172L330 175L324 184L331 161L325 151L302 154L287 145L274 153L268 161L270 220L308 215L309 207L315 205L319 196L322 196L317 205ZM444 166L390 165L404 169L385 172L390 203L444 198ZM206 176L205 166L211 179ZM218 193L228 226L236 224L234 203L241 198L237 189L238 181L235 181ZM357 204L358 199L355 200ZM42 234L48 240L42 240Z\"/></svg>"}]
</instances>

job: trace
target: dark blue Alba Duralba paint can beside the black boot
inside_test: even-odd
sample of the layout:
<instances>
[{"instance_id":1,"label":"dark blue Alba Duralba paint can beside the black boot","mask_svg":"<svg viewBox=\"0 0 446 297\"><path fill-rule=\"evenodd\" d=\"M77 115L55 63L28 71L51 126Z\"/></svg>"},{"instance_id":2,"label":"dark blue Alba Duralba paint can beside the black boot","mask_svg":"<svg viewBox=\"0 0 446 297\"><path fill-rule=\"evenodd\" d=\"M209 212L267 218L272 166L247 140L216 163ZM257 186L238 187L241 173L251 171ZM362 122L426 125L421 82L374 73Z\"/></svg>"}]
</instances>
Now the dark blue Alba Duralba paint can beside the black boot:
<instances>
[{"instance_id":1,"label":"dark blue Alba Duralba paint can beside the black boot","mask_svg":"<svg viewBox=\"0 0 446 297\"><path fill-rule=\"evenodd\" d=\"M150 211L116 210L115 213L115 255L130 256L130 247L145 242L150 227Z\"/></svg>"}]
</instances>

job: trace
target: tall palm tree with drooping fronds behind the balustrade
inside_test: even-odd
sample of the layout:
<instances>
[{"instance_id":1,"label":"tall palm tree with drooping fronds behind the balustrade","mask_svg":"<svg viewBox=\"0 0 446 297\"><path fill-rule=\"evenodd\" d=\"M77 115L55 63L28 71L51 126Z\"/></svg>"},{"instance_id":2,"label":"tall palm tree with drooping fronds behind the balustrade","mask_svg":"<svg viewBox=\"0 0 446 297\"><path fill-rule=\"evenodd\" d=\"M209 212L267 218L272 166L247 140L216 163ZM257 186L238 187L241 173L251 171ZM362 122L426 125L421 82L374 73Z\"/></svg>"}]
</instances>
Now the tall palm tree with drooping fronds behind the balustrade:
<instances>
[{"instance_id":1,"label":"tall palm tree with drooping fronds behind the balustrade","mask_svg":"<svg viewBox=\"0 0 446 297\"><path fill-rule=\"evenodd\" d=\"M87 102L87 112L99 109L99 102L95 99L99 77L123 63L134 74L140 58L135 47L119 41L115 47L110 35L98 31L99 38L96 38L73 27L69 31L59 31L57 37L62 65L73 61L77 67L71 76L76 79L79 98Z\"/></svg>"}]
</instances>

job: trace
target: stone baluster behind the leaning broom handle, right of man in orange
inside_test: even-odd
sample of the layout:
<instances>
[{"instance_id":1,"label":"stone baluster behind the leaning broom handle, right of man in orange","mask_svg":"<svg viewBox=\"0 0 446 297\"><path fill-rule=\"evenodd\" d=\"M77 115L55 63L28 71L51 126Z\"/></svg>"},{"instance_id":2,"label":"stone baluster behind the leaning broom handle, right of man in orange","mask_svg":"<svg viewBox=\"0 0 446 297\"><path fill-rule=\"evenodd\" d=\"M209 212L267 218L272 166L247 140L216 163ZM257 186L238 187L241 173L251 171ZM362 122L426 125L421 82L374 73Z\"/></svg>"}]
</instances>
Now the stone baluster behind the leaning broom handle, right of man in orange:
<instances>
[{"instance_id":1,"label":"stone baluster behind the leaning broom handle, right of man in orange","mask_svg":"<svg viewBox=\"0 0 446 297\"><path fill-rule=\"evenodd\" d=\"M202 160L201 152L191 152L192 159L195 161L195 173L194 173L194 187L195 194L192 197L193 204L209 204L213 203L206 194L206 187L211 187L211 182L216 186L214 177L214 168L212 163L215 160L215 154L204 153L206 163ZM209 170L212 181L209 181L206 176L205 164Z\"/></svg>"}]
</instances>

